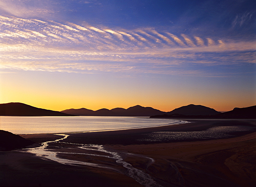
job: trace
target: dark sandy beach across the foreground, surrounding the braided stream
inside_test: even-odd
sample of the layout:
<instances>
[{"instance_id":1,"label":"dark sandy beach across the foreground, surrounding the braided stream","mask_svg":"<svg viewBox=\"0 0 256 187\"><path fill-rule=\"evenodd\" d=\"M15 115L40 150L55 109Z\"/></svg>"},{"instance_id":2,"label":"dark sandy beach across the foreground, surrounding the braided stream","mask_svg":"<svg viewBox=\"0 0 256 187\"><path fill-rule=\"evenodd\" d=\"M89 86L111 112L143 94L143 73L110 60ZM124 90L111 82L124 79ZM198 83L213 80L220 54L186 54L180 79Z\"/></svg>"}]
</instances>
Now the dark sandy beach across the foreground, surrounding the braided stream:
<instances>
[{"instance_id":1,"label":"dark sandy beach across the foreground, surrounding the braided stream","mask_svg":"<svg viewBox=\"0 0 256 187\"><path fill-rule=\"evenodd\" d=\"M194 121L195 123L108 132L71 133L62 142L100 144L117 152L134 168L151 175L158 186L255 186L256 132L214 140L139 141L156 131L202 131L215 126L256 126L255 121ZM21 135L35 142L59 139L52 134ZM88 153L72 144L56 143L58 157L102 164L109 168L64 165L24 151L0 152L1 186L143 186L128 177L114 159ZM67 154L73 153L73 154ZM90 154L106 154L89 151ZM151 159L153 158L154 162Z\"/></svg>"}]
</instances>

